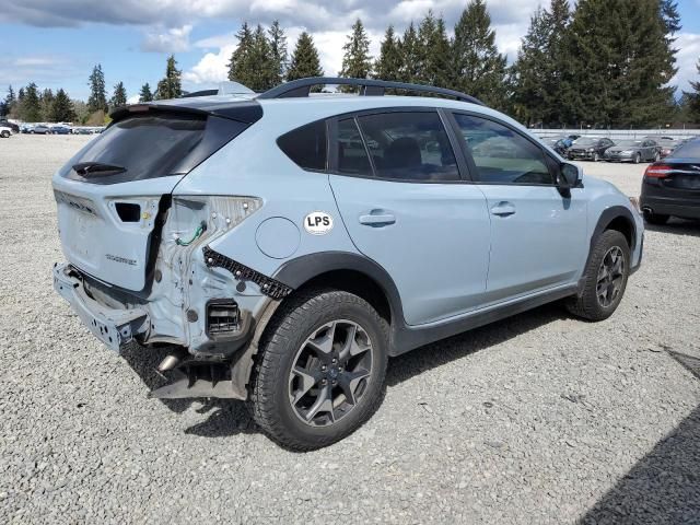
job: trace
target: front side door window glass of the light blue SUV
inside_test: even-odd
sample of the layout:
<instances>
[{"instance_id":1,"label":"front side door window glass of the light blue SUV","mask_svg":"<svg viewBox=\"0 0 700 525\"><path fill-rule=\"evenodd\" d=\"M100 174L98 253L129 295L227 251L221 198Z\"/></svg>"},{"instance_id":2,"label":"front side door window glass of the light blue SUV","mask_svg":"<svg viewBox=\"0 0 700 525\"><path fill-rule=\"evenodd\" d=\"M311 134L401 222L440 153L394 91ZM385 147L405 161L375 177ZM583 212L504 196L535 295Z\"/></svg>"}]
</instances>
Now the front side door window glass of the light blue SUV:
<instances>
[{"instance_id":1,"label":"front side door window glass of the light blue SUV","mask_svg":"<svg viewBox=\"0 0 700 525\"><path fill-rule=\"evenodd\" d=\"M475 178L490 184L553 184L545 154L533 142L486 118L455 115L477 167Z\"/></svg>"}]
</instances>

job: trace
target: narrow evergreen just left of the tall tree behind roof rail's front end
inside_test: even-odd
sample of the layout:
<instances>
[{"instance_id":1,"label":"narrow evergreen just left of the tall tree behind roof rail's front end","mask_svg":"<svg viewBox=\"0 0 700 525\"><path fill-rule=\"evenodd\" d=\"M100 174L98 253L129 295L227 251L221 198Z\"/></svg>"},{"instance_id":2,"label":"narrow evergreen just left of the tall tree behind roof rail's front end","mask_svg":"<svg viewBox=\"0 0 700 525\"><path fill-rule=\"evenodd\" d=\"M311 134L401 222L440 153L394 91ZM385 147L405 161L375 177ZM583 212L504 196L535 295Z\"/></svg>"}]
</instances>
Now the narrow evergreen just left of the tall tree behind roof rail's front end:
<instances>
[{"instance_id":1,"label":"narrow evergreen just left of the tall tree behind roof rail's front end","mask_svg":"<svg viewBox=\"0 0 700 525\"><path fill-rule=\"evenodd\" d=\"M418 74L416 81L442 88L450 86L450 54L445 21L442 18L436 19L429 10L418 26Z\"/></svg>"}]
</instances>

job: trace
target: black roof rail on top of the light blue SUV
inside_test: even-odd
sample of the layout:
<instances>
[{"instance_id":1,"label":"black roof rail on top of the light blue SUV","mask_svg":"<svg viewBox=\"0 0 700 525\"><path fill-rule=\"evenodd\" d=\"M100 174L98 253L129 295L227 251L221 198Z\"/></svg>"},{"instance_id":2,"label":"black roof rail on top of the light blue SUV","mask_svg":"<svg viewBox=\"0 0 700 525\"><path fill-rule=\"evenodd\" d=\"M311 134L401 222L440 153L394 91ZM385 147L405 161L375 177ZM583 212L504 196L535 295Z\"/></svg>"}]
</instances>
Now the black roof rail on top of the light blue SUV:
<instances>
[{"instance_id":1,"label":"black roof rail on top of the light blue SUV","mask_svg":"<svg viewBox=\"0 0 700 525\"><path fill-rule=\"evenodd\" d=\"M406 90L432 93L435 95L453 96L460 102L469 102L483 106L478 98L445 88L434 88L432 85L409 84L406 82L393 82L387 80L373 79L343 79L340 77L308 77L306 79L292 80L258 95L258 98L288 98L308 96L314 85L357 85L360 88L362 96L383 96L386 90Z\"/></svg>"}]
</instances>

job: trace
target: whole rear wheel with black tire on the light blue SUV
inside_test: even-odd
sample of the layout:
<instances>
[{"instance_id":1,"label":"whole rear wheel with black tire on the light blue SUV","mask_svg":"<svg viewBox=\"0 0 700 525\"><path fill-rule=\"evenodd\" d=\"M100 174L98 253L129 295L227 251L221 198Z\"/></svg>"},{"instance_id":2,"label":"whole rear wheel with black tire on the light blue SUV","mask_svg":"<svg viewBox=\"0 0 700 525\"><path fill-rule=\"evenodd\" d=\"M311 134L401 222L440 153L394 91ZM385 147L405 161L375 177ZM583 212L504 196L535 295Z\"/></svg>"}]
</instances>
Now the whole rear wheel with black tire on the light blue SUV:
<instances>
[{"instance_id":1,"label":"whole rear wheel with black tire on the light blue SUV","mask_svg":"<svg viewBox=\"0 0 700 525\"><path fill-rule=\"evenodd\" d=\"M260 341L255 421L293 451L346 438L382 401L387 347L388 325L363 299L332 289L290 298Z\"/></svg>"}]
</instances>

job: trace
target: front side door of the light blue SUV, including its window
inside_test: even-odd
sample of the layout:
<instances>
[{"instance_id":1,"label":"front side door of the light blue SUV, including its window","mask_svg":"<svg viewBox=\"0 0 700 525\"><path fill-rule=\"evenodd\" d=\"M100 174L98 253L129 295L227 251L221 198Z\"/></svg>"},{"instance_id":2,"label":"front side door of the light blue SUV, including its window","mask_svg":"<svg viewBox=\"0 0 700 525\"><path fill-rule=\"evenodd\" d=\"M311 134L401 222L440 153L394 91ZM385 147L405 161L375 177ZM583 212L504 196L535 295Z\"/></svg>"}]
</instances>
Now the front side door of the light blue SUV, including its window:
<instances>
[{"instance_id":1,"label":"front side door of the light blue SUV, including its window","mask_svg":"<svg viewBox=\"0 0 700 525\"><path fill-rule=\"evenodd\" d=\"M553 159L495 119L454 114L491 218L488 299L501 302L575 281L587 254L586 201L555 185Z\"/></svg>"}]
</instances>

